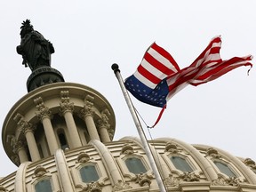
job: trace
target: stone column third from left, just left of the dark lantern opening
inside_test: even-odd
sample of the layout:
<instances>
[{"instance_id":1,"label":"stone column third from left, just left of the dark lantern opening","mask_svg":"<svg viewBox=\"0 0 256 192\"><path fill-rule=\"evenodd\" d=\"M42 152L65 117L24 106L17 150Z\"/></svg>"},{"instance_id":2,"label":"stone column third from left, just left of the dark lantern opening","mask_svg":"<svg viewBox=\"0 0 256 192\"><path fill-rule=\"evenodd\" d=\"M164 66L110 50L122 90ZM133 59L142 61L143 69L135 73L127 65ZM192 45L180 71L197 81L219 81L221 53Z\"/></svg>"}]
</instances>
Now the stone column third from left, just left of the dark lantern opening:
<instances>
[{"instance_id":1,"label":"stone column third from left, just left of the dark lantern opening","mask_svg":"<svg viewBox=\"0 0 256 192\"><path fill-rule=\"evenodd\" d=\"M44 133L50 148L50 153L53 155L59 146L52 128L51 111L49 108L44 106L44 101L41 97L36 98L34 102L36 104L36 108L38 109L36 111L36 116L38 116L44 126Z\"/></svg>"}]
</instances>

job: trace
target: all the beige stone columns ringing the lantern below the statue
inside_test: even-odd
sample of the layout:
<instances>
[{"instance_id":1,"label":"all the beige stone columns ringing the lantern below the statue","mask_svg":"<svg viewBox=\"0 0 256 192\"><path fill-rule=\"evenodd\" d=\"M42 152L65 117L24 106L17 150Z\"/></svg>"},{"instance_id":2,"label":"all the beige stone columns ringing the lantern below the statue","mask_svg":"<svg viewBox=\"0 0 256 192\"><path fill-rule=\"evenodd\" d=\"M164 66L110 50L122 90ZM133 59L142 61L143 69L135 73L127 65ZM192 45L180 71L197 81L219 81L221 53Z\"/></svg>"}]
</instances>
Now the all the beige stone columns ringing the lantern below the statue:
<instances>
[{"instance_id":1,"label":"all the beige stone columns ringing the lantern below the statue","mask_svg":"<svg viewBox=\"0 0 256 192\"><path fill-rule=\"evenodd\" d=\"M62 115L65 119L68 136L70 138L68 144L70 148L81 147L83 144L73 116L75 107L74 103L70 102L68 91L61 91L60 99L60 115ZM94 116L97 108L94 106L93 100L94 98L91 95L87 95L84 98L84 108L80 110L78 115L84 120L91 140L100 140L102 142L111 141L108 133L110 129L110 124L108 124L108 116L110 116L108 109L103 110L100 113L100 118L98 117L98 120L96 121ZM55 151L60 148L54 128L52 126L52 116L54 116L54 114L52 114L50 108L44 105L44 100L41 97L36 98L34 103L36 104L37 109L36 116L43 124L44 134L50 150L50 155L54 155ZM25 136L23 137L23 140L20 139L22 137L18 137L18 139L15 137L16 140L15 144L13 145L13 149L15 149L16 154L19 156L20 164L27 162L29 159L26 146L28 146L31 161L35 162L40 160L41 156L34 134L36 132L36 125L26 121L25 117L20 115L20 113L17 113L14 120L18 125L17 130L21 130Z\"/></svg>"}]
</instances>

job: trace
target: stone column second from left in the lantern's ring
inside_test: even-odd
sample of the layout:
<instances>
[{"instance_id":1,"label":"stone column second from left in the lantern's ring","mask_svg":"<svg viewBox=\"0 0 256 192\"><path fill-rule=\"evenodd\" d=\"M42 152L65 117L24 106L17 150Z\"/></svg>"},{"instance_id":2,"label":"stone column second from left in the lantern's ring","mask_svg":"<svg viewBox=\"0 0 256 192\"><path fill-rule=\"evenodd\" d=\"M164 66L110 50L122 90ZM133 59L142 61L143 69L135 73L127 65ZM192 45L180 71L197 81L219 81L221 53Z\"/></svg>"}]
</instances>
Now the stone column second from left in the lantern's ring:
<instances>
[{"instance_id":1,"label":"stone column second from left in the lantern's ring","mask_svg":"<svg viewBox=\"0 0 256 192\"><path fill-rule=\"evenodd\" d=\"M19 113L14 117L14 120L17 121L17 124L22 129L22 132L24 133L27 143L28 143L28 150L31 156L32 161L40 160L40 154L37 148L36 139L34 136L35 126L33 124L28 123L28 121L25 121L23 116L21 116Z\"/></svg>"}]
</instances>

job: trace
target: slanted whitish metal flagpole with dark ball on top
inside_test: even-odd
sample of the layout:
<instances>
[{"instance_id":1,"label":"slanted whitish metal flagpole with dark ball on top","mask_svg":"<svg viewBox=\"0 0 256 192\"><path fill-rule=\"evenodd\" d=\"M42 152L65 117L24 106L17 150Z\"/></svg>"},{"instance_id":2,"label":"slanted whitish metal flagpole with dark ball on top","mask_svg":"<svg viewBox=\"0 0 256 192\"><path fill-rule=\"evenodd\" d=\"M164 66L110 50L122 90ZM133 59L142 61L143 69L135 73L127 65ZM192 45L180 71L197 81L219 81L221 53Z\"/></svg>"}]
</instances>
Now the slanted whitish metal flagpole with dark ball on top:
<instances>
[{"instance_id":1,"label":"slanted whitish metal flagpole with dark ball on top","mask_svg":"<svg viewBox=\"0 0 256 192\"><path fill-rule=\"evenodd\" d=\"M165 188L164 188L164 182L163 180L161 179L161 175L160 173L158 172L158 169L156 167L156 161L151 153L151 150L148 146L148 141L146 140L143 132L142 132L142 127L141 127L141 124L140 124L140 120L133 108L133 105L132 105L132 100L130 99L130 96L124 86L124 81L123 81L123 78L120 74L120 70L119 70L119 67L118 65L115 63L112 65L111 67L113 70L114 70L114 73L116 75L116 78L120 84L120 87L122 89L122 92L124 94L124 99L127 103L127 106L132 114L132 118L133 118L133 121L134 121L134 124L136 125L136 128L137 128L137 131L140 135L140 140L142 142L142 145L143 145L143 148L145 149L145 152L146 152L146 155L148 156L148 161L149 161L149 164L151 165L151 168L155 174L155 177L156 177L156 182L157 182L157 185L160 189L161 192L166 192Z\"/></svg>"}]
</instances>

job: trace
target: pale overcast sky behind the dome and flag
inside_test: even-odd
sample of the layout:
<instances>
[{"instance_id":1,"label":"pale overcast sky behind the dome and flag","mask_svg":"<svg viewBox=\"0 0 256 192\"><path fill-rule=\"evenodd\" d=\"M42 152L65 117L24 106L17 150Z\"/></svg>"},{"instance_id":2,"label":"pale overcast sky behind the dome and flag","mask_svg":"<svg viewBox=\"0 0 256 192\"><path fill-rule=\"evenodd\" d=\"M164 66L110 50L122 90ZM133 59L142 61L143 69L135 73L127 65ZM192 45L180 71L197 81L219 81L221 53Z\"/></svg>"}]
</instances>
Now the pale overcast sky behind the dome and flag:
<instances>
[{"instance_id":1,"label":"pale overcast sky behind the dome and flag","mask_svg":"<svg viewBox=\"0 0 256 192\"><path fill-rule=\"evenodd\" d=\"M16 53L23 20L31 20L52 42L52 68L60 70L66 82L91 86L107 98L116 113L115 140L119 140L139 135L111 70L113 63L124 78L131 76L156 41L184 68L213 36L222 37L223 60L256 56L255 8L255 0L0 1L0 122L27 93L31 72ZM250 76L248 68L241 67L208 84L187 86L169 100L160 123L150 130L152 138L210 145L256 161L255 69ZM131 98L147 124L154 124L160 108ZM2 143L0 161L0 176L17 170Z\"/></svg>"}]
</instances>

